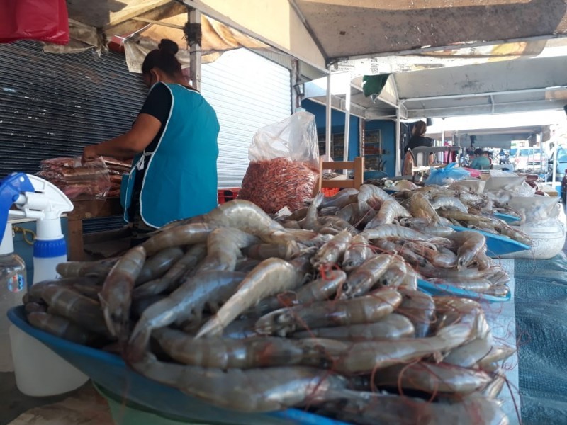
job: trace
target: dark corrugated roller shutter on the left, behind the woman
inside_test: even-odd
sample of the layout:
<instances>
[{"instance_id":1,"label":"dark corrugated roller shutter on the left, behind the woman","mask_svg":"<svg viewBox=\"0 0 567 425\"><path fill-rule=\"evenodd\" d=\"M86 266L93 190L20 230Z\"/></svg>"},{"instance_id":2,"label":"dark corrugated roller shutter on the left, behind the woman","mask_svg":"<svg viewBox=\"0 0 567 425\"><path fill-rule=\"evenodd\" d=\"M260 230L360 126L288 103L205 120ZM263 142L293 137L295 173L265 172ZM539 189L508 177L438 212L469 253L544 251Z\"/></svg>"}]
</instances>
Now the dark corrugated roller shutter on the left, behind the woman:
<instances>
[{"instance_id":1,"label":"dark corrugated roller shutter on the left, behind the woman","mask_svg":"<svg viewBox=\"0 0 567 425\"><path fill-rule=\"evenodd\" d=\"M0 177L35 174L40 161L82 154L84 145L130 128L147 89L123 55L43 53L33 42L0 44ZM86 220L85 231L120 217Z\"/></svg>"}]
</instances>

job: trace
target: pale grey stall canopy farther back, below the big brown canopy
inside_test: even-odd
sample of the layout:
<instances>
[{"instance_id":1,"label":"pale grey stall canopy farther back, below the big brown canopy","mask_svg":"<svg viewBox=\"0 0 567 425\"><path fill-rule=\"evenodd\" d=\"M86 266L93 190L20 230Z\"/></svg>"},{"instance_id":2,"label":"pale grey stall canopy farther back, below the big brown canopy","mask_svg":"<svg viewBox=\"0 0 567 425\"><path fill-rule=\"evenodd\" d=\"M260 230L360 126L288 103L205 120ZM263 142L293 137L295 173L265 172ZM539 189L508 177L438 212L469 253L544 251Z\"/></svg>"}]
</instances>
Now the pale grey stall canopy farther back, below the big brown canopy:
<instances>
[{"instance_id":1,"label":"pale grey stall canopy farther back, below the big brown canopy","mask_svg":"<svg viewBox=\"0 0 567 425\"><path fill-rule=\"evenodd\" d=\"M395 118L398 107L400 117L407 119L563 109L567 103L567 38L508 44L500 45L499 50L515 60L440 54L435 58L437 67L429 67L420 64L416 55L384 57L378 66L383 64L391 74L383 89L371 96L365 96L363 78L354 69L332 74L332 105L344 111L344 81L354 77L351 111L367 120ZM461 66L454 66L456 63ZM314 101L325 103L325 93L325 79L305 84L305 96Z\"/></svg>"}]
</instances>

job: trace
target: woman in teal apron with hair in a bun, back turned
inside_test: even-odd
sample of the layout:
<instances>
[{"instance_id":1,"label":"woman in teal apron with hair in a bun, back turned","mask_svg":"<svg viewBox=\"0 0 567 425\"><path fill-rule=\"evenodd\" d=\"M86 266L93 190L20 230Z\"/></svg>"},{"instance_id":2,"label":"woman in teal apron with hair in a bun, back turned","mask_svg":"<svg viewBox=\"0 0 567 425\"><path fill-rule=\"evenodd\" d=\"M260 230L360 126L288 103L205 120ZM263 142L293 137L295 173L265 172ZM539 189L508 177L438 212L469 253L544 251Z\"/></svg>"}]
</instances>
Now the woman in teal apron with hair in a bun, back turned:
<instances>
[{"instance_id":1,"label":"woman in teal apron with hair in a bun, back turned","mask_svg":"<svg viewBox=\"0 0 567 425\"><path fill-rule=\"evenodd\" d=\"M137 242L157 227L204 214L218 202L218 120L187 84L178 51L175 42L162 40L147 54L142 74L150 93L133 127L83 152L83 160L134 157L123 198L124 219L133 224Z\"/></svg>"}]
</instances>

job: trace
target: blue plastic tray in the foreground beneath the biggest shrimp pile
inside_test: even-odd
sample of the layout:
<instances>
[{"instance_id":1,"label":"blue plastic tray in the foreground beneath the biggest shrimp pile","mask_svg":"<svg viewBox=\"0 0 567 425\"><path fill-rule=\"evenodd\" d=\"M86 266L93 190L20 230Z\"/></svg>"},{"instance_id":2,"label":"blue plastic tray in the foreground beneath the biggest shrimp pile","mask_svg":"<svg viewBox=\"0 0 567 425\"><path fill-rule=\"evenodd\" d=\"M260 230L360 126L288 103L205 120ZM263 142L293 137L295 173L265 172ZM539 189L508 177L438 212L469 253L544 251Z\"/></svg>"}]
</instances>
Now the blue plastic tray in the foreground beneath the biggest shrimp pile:
<instances>
[{"instance_id":1,"label":"blue plastic tray in the foreground beneath the biggest shrimp pile","mask_svg":"<svg viewBox=\"0 0 567 425\"><path fill-rule=\"evenodd\" d=\"M8 318L26 334L43 342L59 356L89 376L96 384L116 395L156 412L163 412L186 421L216 424L313 424L345 425L344 422L327 419L298 409L281 412L243 413L222 409L190 397L175 388L162 385L130 370L115 354L88 346L74 344L52 334L35 329L26 322L23 306L13 307Z\"/></svg>"}]
</instances>

